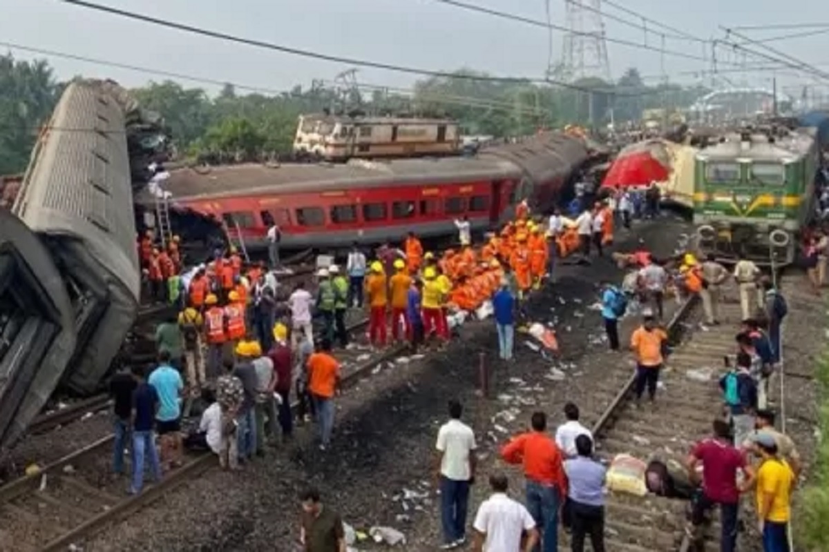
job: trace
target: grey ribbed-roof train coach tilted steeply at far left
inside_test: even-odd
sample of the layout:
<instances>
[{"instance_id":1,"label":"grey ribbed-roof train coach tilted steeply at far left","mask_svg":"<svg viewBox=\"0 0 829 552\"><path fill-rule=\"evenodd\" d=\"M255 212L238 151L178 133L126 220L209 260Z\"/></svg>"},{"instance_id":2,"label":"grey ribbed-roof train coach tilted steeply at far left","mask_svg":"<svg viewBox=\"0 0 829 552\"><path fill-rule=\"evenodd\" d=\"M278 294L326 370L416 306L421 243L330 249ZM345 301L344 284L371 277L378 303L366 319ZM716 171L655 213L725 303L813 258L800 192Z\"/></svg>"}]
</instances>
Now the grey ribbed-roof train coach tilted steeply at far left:
<instances>
[{"instance_id":1,"label":"grey ribbed-roof train coach tilted steeply at far left","mask_svg":"<svg viewBox=\"0 0 829 552\"><path fill-rule=\"evenodd\" d=\"M77 328L65 383L80 392L98 386L138 310L122 92L108 81L70 84L12 209L41 236L65 281Z\"/></svg>"}]
</instances>

